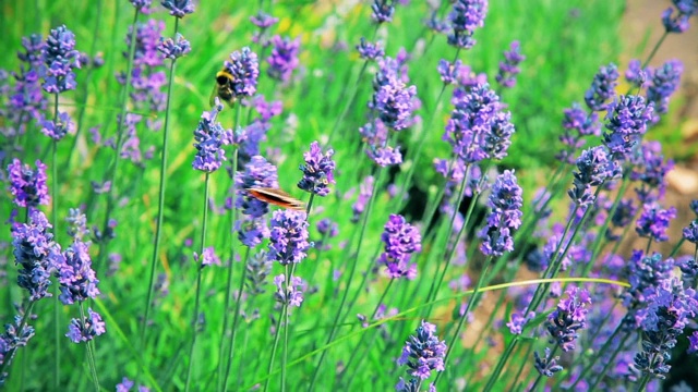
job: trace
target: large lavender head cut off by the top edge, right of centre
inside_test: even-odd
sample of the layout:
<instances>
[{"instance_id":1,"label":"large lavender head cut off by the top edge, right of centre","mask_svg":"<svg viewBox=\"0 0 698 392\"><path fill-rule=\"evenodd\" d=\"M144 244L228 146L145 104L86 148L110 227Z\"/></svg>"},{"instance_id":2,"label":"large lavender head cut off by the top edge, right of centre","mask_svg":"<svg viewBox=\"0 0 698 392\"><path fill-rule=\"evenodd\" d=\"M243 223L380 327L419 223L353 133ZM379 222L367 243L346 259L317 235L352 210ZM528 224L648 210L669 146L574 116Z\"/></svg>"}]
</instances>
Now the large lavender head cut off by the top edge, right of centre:
<instances>
[{"instance_id":1,"label":"large lavender head cut off by the top edge, right of centre","mask_svg":"<svg viewBox=\"0 0 698 392\"><path fill-rule=\"evenodd\" d=\"M456 48L470 49L476 45L472 38L476 28L484 26L488 14L486 0L456 0L448 14L452 32L448 34L448 45Z\"/></svg>"}]
</instances>

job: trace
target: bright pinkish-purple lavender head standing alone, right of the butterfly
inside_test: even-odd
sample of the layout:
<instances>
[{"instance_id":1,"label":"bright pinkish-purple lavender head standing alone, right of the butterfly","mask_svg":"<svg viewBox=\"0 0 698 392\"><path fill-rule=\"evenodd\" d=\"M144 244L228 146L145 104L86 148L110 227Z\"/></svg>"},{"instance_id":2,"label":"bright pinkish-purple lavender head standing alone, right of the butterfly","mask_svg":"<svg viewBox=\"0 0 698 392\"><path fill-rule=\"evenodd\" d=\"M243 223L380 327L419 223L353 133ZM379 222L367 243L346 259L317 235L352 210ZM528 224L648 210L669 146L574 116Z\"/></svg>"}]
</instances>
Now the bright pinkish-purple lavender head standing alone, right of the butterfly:
<instances>
[{"instance_id":1,"label":"bright pinkish-purple lavender head standing alone, right of the butterfly","mask_svg":"<svg viewBox=\"0 0 698 392\"><path fill-rule=\"evenodd\" d=\"M385 243L385 250L378 258L378 265L386 267L388 277L414 279L417 265L410 264L410 258L413 253L422 250L419 230L407 223L402 216L393 213L385 223L381 241Z\"/></svg>"}]
</instances>

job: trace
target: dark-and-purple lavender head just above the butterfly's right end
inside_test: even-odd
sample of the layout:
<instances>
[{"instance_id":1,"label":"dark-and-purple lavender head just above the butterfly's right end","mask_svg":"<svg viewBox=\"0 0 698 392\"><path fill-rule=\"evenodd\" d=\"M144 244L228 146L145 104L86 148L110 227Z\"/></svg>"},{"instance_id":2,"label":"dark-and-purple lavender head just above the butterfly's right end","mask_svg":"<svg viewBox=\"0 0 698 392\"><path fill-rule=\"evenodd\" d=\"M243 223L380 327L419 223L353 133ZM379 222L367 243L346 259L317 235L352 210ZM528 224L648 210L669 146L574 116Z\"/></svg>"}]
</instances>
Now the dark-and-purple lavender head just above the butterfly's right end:
<instances>
[{"instance_id":1,"label":"dark-and-purple lavender head just above the butterfly's right end","mask_svg":"<svg viewBox=\"0 0 698 392\"><path fill-rule=\"evenodd\" d=\"M310 145L310 150L303 152L305 164L300 166L303 177L298 182L298 187L315 194L317 196L327 196L329 194L328 184L335 183L335 161L332 156L335 150L332 148L323 154L317 142Z\"/></svg>"}]
</instances>

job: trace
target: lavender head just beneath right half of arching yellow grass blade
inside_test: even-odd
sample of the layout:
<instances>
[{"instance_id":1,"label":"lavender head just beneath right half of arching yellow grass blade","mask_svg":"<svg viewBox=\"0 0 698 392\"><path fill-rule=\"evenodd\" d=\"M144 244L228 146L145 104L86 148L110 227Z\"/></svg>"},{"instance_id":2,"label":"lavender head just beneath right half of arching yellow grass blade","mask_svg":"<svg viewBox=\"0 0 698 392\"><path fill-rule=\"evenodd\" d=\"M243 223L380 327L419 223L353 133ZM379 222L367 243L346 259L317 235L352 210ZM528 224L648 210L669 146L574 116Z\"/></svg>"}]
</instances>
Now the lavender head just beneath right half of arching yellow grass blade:
<instances>
[{"instance_id":1,"label":"lavender head just beneath right half of arching yellow grass blade","mask_svg":"<svg viewBox=\"0 0 698 392\"><path fill-rule=\"evenodd\" d=\"M550 343L556 343L564 352L575 348L578 330L587 326L587 307L591 306L591 297L586 289L569 287L565 291L567 298L561 299L555 311L547 316L545 327L551 335Z\"/></svg>"}]
</instances>

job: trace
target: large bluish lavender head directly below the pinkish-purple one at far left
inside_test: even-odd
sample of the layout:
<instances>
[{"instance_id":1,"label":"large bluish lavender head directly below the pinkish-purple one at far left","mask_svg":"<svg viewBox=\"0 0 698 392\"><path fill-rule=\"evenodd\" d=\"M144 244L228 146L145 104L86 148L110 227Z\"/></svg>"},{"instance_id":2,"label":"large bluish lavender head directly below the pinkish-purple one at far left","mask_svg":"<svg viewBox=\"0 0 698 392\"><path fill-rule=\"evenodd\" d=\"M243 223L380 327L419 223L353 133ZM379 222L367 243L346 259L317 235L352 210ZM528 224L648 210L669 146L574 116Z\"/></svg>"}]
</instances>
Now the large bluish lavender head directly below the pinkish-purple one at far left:
<instances>
[{"instance_id":1,"label":"large bluish lavender head directly below the pinkish-purple one at far left","mask_svg":"<svg viewBox=\"0 0 698 392\"><path fill-rule=\"evenodd\" d=\"M53 264L60 257L60 246L49 232L52 225L39 210L29 212L29 223L17 224L12 231L14 264L21 266L17 284L29 292L29 301L50 297L48 286Z\"/></svg>"}]
</instances>

